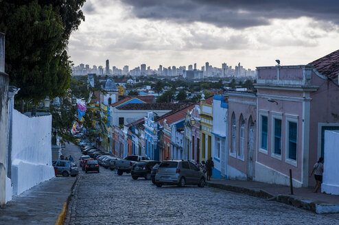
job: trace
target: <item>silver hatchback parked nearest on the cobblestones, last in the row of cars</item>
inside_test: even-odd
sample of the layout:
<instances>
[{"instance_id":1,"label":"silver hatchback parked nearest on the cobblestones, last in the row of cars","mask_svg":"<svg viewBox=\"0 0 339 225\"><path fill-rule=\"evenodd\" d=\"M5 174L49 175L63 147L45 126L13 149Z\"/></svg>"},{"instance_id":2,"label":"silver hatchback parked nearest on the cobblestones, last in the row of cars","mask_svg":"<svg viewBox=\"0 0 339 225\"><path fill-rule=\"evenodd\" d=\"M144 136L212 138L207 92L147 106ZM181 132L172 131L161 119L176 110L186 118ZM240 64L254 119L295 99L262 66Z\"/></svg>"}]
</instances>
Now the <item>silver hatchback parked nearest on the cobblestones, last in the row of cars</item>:
<instances>
[{"instance_id":1,"label":"silver hatchback parked nearest on the cobblestones, last in the row of cars","mask_svg":"<svg viewBox=\"0 0 339 225\"><path fill-rule=\"evenodd\" d=\"M196 165L189 161L163 161L155 175L156 187L163 185L198 185L204 187L206 177Z\"/></svg>"}]
</instances>

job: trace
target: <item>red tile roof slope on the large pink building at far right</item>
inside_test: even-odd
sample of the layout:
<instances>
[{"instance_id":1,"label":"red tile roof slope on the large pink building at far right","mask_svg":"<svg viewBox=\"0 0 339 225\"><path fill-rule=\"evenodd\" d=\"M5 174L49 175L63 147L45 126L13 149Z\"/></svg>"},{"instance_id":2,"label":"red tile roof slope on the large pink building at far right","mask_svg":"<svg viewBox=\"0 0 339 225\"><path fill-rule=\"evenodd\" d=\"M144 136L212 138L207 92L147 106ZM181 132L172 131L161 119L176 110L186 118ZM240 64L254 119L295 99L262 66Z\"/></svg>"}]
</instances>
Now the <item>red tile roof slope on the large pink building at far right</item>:
<instances>
[{"instance_id":1,"label":"red tile roof slope on the large pink building at far right","mask_svg":"<svg viewBox=\"0 0 339 225\"><path fill-rule=\"evenodd\" d=\"M337 78L339 73L339 50L328 54L318 60L310 62L316 70L329 78Z\"/></svg>"}]
</instances>

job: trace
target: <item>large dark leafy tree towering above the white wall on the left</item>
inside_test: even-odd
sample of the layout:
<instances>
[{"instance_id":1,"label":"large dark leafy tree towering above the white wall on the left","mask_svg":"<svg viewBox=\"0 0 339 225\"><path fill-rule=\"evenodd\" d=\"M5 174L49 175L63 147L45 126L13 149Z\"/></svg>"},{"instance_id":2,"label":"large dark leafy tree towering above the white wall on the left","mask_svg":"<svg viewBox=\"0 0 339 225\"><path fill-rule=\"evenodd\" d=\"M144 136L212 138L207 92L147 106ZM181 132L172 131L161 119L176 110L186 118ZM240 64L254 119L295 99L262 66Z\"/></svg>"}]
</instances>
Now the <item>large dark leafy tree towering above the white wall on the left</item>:
<instances>
[{"instance_id":1,"label":"large dark leafy tree towering above the white wall on the left","mask_svg":"<svg viewBox=\"0 0 339 225\"><path fill-rule=\"evenodd\" d=\"M84 20L85 0L2 0L0 31L6 35L5 71L21 88L16 98L37 104L65 95L71 82L67 44Z\"/></svg>"}]
</instances>

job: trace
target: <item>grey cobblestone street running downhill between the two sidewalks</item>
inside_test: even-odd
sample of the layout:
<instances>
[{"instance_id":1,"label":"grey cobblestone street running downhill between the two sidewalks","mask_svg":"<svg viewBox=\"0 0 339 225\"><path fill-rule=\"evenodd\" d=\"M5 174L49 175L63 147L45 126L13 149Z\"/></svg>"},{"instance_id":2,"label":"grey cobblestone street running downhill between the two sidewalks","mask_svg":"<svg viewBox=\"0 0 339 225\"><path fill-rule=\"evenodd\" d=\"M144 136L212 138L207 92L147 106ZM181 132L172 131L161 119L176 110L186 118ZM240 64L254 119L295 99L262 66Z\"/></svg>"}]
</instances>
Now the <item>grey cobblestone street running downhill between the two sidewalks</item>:
<instances>
[{"instance_id":1,"label":"grey cobblestone street running downhill between the two sidewalks","mask_svg":"<svg viewBox=\"0 0 339 225\"><path fill-rule=\"evenodd\" d=\"M100 167L80 170L65 224L339 224L339 215L210 187L157 188Z\"/></svg>"}]
</instances>

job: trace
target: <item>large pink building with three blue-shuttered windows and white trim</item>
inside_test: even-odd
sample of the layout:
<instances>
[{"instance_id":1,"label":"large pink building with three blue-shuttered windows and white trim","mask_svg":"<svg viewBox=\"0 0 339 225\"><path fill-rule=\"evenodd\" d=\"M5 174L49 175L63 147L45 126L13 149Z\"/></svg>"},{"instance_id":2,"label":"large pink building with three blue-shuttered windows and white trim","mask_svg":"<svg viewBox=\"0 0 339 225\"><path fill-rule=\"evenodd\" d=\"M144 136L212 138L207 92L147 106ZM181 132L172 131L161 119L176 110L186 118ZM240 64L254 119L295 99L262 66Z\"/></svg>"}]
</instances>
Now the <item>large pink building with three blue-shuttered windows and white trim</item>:
<instances>
[{"instance_id":1,"label":"large pink building with three blue-shuttered windows and white trim","mask_svg":"<svg viewBox=\"0 0 339 225\"><path fill-rule=\"evenodd\" d=\"M307 65L257 67L255 180L314 185L325 130L339 130L339 50Z\"/></svg>"}]
</instances>

